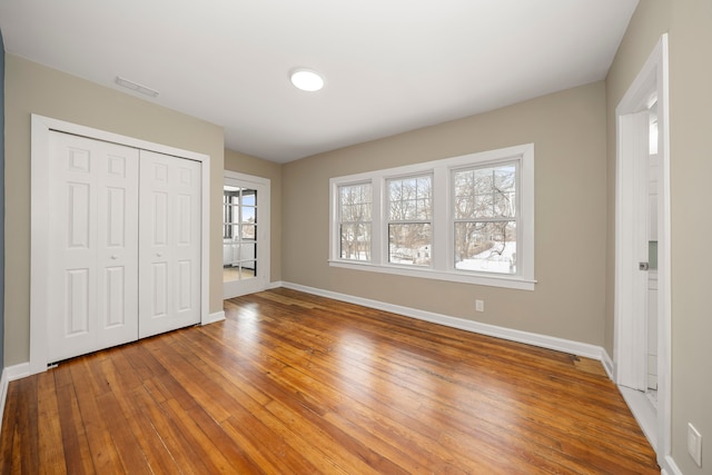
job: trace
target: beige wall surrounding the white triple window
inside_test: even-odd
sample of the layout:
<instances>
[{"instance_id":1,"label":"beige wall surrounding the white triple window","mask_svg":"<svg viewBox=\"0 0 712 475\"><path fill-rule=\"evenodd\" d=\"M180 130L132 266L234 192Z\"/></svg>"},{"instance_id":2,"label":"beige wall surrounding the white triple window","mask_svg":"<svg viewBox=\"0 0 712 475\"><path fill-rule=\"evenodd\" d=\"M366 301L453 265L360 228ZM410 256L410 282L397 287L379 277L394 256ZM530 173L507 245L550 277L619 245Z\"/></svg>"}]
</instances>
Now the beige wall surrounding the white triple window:
<instances>
[{"instance_id":1,"label":"beige wall surrounding the white triple window","mask_svg":"<svg viewBox=\"0 0 712 475\"><path fill-rule=\"evenodd\" d=\"M534 291L328 266L329 178L533 142ZM603 344L605 90L596 82L284 166L283 280ZM485 311L475 313L475 299Z\"/></svg>"}]
</instances>

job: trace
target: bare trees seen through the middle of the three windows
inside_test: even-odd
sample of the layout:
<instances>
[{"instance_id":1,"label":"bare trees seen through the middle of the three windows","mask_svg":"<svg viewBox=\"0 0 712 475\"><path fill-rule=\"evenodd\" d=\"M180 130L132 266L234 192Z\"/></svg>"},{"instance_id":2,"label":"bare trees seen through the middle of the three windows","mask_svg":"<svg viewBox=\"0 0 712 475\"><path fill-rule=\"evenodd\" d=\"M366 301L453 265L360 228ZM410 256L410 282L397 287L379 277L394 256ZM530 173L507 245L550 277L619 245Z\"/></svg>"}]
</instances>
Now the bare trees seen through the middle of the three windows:
<instances>
[{"instance_id":1,"label":"bare trees seen through the middle of the three windows","mask_svg":"<svg viewBox=\"0 0 712 475\"><path fill-rule=\"evenodd\" d=\"M429 266L432 220L432 176L388 180L388 261Z\"/></svg>"}]
</instances>

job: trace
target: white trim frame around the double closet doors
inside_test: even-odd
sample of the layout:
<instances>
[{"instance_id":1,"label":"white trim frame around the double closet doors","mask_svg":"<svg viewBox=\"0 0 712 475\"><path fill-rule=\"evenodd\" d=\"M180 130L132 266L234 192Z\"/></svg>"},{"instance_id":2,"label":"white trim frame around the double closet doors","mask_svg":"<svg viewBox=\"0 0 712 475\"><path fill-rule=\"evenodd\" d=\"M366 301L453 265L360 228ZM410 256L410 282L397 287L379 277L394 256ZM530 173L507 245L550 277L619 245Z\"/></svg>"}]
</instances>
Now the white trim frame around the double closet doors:
<instances>
[{"instance_id":1,"label":"white trim frame around the double closet doors","mask_svg":"<svg viewBox=\"0 0 712 475\"><path fill-rule=\"evenodd\" d=\"M63 120L32 115L31 131L31 198L30 198L30 374L47 370L48 360L47 316L49 308L43 296L47 295L46 263L49 249L49 232L47 228L47 204L49 202L49 180L47 164L51 159L49 137L51 131L72 133L90 139L125 145L144 150L172 155L180 158L199 161L201 165L201 236L200 236L200 323L210 323L209 289L210 289L210 156L195 151L182 150L160 144L121 136L106 130L93 129ZM137 256L138 258L138 256ZM138 317L138 316L137 316Z\"/></svg>"}]
</instances>

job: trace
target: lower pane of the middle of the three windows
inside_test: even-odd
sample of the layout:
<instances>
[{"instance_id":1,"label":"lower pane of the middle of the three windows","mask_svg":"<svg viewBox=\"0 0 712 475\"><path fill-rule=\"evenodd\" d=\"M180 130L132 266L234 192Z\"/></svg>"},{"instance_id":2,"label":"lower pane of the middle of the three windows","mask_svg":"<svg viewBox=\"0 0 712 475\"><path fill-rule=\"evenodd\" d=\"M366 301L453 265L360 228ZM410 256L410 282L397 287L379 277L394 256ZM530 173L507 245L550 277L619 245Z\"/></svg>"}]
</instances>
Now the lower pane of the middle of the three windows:
<instances>
[{"instance_id":1,"label":"lower pane of the middle of the three windows","mask_svg":"<svg viewBox=\"0 0 712 475\"><path fill-rule=\"evenodd\" d=\"M388 225L388 261L431 265L433 228L429 224Z\"/></svg>"}]
</instances>

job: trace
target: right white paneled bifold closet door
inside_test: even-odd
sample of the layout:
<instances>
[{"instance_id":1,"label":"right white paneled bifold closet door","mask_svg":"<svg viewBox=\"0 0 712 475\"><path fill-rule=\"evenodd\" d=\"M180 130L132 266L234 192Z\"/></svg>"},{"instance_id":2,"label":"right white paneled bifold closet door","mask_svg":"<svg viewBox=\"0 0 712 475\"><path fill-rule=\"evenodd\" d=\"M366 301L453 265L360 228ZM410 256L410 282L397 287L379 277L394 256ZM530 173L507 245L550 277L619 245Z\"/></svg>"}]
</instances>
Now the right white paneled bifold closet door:
<instances>
[{"instance_id":1,"label":"right white paneled bifold closet door","mask_svg":"<svg viewBox=\"0 0 712 475\"><path fill-rule=\"evenodd\" d=\"M141 150L139 337L200 323L200 162Z\"/></svg>"}]
</instances>

